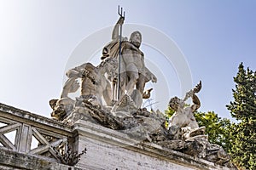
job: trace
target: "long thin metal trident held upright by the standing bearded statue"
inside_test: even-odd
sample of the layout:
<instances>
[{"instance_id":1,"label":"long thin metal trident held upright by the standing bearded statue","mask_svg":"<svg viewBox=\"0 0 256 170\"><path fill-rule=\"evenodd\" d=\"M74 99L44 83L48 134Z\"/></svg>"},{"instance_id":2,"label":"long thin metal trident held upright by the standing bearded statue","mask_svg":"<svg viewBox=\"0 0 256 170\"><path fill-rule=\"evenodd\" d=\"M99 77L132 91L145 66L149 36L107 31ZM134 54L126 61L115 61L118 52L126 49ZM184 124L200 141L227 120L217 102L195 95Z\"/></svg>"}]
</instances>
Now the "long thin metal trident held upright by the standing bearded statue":
<instances>
[{"instance_id":1,"label":"long thin metal trident held upright by the standing bearded statue","mask_svg":"<svg viewBox=\"0 0 256 170\"><path fill-rule=\"evenodd\" d=\"M125 11L123 13L123 8L121 8L120 10L120 7L119 7L119 10L118 10L118 14L120 17L123 17L125 19ZM121 45L122 45L122 25L120 25L120 35L119 35L119 59L118 59L118 62L119 62L119 72L118 72L118 100L120 98L120 72L121 72Z\"/></svg>"}]
</instances>

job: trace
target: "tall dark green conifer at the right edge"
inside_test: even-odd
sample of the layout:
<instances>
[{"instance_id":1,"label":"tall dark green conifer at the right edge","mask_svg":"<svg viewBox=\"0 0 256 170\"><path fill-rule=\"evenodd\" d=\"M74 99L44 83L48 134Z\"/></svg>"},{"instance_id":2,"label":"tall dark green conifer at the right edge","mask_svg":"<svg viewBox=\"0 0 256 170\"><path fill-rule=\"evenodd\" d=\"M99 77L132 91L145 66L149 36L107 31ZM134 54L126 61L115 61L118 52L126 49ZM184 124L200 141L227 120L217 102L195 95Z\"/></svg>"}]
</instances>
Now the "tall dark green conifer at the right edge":
<instances>
[{"instance_id":1,"label":"tall dark green conifer at the right edge","mask_svg":"<svg viewBox=\"0 0 256 170\"><path fill-rule=\"evenodd\" d=\"M244 69L242 63L234 77L234 101L227 105L238 123L231 130L232 160L241 169L256 169L256 72Z\"/></svg>"}]
</instances>

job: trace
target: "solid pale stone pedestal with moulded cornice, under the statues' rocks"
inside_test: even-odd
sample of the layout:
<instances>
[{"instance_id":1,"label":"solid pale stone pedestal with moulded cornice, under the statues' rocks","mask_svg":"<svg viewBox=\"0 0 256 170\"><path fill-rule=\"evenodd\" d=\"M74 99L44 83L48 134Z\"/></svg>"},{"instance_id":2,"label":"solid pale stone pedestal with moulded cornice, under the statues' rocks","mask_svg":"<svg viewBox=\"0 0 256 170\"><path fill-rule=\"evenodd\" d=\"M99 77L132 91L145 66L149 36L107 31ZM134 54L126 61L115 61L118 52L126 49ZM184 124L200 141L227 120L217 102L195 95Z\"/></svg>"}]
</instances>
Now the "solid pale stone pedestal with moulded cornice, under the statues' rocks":
<instances>
[{"instance_id":1,"label":"solid pale stone pedestal with moulded cornice, under the statues' rocks","mask_svg":"<svg viewBox=\"0 0 256 170\"><path fill-rule=\"evenodd\" d=\"M75 166L81 169L228 169L83 120L74 123L73 131L79 152L87 149Z\"/></svg>"}]
</instances>

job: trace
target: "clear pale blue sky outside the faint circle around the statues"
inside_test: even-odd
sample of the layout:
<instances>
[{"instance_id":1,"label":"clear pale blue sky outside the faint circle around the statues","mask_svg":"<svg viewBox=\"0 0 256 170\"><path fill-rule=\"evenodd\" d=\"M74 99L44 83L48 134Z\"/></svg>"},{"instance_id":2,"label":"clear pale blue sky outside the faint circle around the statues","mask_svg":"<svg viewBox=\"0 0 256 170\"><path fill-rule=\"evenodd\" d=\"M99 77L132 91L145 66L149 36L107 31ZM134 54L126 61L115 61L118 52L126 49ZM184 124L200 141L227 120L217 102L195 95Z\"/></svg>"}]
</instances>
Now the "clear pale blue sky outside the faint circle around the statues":
<instances>
[{"instance_id":1,"label":"clear pale blue sky outside the faint circle around the statues","mask_svg":"<svg viewBox=\"0 0 256 170\"><path fill-rule=\"evenodd\" d=\"M49 99L60 96L74 49L86 37L113 26L118 5L125 8L125 24L152 27L176 43L193 85L203 83L200 111L230 118L225 105L232 100L238 65L243 62L256 70L256 1L1 0L0 102L49 116ZM145 58L161 58L154 48L142 48ZM158 66L169 81L166 98L183 95L176 93L175 70ZM155 89L155 95L163 91Z\"/></svg>"}]
</instances>

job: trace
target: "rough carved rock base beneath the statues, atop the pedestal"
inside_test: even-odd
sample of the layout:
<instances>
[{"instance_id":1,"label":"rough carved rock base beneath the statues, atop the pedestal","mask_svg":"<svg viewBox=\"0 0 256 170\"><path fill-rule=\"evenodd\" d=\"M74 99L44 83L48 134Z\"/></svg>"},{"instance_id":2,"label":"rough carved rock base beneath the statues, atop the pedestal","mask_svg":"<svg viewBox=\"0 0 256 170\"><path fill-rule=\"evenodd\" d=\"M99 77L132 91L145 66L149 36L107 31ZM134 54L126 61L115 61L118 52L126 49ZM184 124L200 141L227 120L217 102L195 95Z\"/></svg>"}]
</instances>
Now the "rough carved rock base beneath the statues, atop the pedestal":
<instances>
[{"instance_id":1,"label":"rough carved rock base beneath the statues, atop the pedestal","mask_svg":"<svg viewBox=\"0 0 256 170\"><path fill-rule=\"evenodd\" d=\"M79 112L81 111L81 112ZM84 124L94 123L124 133L129 139L139 142L159 144L161 147L177 150L190 156L215 162L219 165L232 167L230 157L217 144L210 144L205 135L204 127L191 129L183 127L180 139L174 138L165 127L165 117L160 111L148 112L140 109L130 115L115 116L113 113L95 108L90 102L84 103L74 111L64 122L70 125L84 120ZM187 135L184 137L184 135Z\"/></svg>"}]
</instances>

